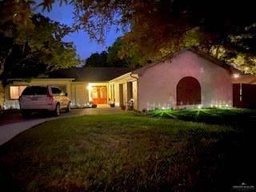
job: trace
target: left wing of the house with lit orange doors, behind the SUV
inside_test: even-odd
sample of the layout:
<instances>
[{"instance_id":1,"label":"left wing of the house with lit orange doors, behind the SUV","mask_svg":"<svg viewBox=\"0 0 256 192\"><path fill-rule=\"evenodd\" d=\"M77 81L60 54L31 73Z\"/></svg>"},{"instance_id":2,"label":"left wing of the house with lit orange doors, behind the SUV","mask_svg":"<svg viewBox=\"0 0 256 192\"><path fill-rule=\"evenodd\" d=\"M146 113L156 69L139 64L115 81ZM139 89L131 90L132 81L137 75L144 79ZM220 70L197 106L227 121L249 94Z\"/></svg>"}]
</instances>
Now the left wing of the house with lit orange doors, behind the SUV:
<instances>
[{"instance_id":1,"label":"left wing of the house with lit orange doors, behind the SUV","mask_svg":"<svg viewBox=\"0 0 256 192\"><path fill-rule=\"evenodd\" d=\"M22 78L9 79L4 91L4 108L17 109L18 98L26 86L58 86L68 94L72 107L83 107L88 102L108 106L110 96L109 80L126 74L127 68L114 67L74 67L56 70L48 78L32 78L29 82Z\"/></svg>"}]
</instances>

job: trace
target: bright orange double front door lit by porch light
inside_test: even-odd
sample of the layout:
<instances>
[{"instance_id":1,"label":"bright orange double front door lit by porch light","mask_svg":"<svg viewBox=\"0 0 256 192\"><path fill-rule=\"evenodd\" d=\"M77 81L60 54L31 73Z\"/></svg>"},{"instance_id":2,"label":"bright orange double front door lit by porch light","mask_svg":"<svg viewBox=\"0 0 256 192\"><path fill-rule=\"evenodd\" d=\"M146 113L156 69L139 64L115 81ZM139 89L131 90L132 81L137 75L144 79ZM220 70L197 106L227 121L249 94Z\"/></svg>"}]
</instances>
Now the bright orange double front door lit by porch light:
<instances>
[{"instance_id":1,"label":"bright orange double front door lit by porch light","mask_svg":"<svg viewBox=\"0 0 256 192\"><path fill-rule=\"evenodd\" d=\"M96 104L107 104L106 86L92 86L93 102Z\"/></svg>"}]
</instances>

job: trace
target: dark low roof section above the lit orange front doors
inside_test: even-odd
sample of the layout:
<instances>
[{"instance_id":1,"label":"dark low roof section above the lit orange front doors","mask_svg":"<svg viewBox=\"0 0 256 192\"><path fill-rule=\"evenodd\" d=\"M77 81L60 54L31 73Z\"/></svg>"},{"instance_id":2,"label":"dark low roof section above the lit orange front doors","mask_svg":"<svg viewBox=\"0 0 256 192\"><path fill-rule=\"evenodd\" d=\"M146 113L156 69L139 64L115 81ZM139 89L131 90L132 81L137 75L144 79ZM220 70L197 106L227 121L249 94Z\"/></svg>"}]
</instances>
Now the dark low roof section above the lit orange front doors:
<instances>
[{"instance_id":1,"label":"dark low roof section above the lit orange front doors","mask_svg":"<svg viewBox=\"0 0 256 192\"><path fill-rule=\"evenodd\" d=\"M78 82L106 82L128 71L128 68L115 67L73 67L54 70L49 74L49 78L75 78Z\"/></svg>"}]
</instances>

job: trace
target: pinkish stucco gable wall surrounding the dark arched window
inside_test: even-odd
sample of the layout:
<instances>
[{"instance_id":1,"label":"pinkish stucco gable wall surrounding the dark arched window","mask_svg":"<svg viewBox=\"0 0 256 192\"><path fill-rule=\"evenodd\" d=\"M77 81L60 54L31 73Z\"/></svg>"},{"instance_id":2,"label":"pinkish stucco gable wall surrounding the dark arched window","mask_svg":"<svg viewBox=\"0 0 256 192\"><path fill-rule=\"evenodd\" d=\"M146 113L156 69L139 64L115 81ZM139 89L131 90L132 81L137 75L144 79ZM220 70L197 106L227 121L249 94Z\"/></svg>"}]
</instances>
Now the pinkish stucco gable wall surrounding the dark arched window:
<instances>
[{"instance_id":1,"label":"pinkish stucco gable wall surrounding the dark arched window","mask_svg":"<svg viewBox=\"0 0 256 192\"><path fill-rule=\"evenodd\" d=\"M178 108L176 86L187 76L198 79L200 83L202 97L200 107L232 106L232 82L229 70L186 50L172 59L147 68L139 76L139 110L155 107Z\"/></svg>"}]
</instances>

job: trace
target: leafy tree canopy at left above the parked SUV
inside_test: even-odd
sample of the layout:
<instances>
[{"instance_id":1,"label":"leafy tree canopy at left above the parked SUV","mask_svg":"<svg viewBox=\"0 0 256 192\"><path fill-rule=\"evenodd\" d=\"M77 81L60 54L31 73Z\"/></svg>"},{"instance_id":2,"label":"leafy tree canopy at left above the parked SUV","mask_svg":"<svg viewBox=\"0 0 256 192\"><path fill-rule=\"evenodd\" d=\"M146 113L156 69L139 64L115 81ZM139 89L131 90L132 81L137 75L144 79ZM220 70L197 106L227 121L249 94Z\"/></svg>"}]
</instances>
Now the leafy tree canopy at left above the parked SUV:
<instances>
[{"instance_id":1,"label":"leafy tree canopy at left above the parked SUV","mask_svg":"<svg viewBox=\"0 0 256 192\"><path fill-rule=\"evenodd\" d=\"M0 77L4 81L79 64L73 44L62 42L70 27L33 14L28 1L3 1L0 10Z\"/></svg>"}]
</instances>

